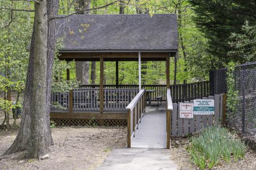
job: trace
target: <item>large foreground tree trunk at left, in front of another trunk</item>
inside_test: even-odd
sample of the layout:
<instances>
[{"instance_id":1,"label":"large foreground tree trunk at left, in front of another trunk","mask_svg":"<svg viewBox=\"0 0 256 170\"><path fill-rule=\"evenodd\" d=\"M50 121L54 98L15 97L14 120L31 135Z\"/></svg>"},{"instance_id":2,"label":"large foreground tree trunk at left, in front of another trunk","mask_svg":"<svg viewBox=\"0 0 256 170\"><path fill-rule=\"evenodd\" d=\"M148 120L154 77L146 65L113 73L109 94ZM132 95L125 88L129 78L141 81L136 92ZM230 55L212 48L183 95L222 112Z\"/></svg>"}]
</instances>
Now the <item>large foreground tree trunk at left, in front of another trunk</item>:
<instances>
[{"instance_id":1,"label":"large foreground tree trunk at left, in front of another trunk","mask_svg":"<svg viewBox=\"0 0 256 170\"><path fill-rule=\"evenodd\" d=\"M35 3L34 79L32 84L30 135L27 158L40 158L49 151L51 133L47 124L47 7L46 0Z\"/></svg>"}]
</instances>

